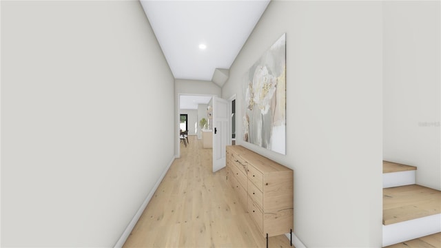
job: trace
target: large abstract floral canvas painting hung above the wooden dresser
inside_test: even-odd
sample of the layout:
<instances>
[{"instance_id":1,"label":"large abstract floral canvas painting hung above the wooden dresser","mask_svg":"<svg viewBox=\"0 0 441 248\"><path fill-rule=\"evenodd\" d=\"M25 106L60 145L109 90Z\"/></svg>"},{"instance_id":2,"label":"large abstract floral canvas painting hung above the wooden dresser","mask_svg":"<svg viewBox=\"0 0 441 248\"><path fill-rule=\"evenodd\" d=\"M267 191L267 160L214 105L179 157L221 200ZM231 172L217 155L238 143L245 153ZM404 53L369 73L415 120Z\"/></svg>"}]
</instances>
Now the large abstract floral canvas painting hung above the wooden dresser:
<instances>
[{"instance_id":1,"label":"large abstract floral canvas painting hung above the wooden dresser","mask_svg":"<svg viewBox=\"0 0 441 248\"><path fill-rule=\"evenodd\" d=\"M243 139L286 154L286 34L249 68L243 83Z\"/></svg>"}]
</instances>

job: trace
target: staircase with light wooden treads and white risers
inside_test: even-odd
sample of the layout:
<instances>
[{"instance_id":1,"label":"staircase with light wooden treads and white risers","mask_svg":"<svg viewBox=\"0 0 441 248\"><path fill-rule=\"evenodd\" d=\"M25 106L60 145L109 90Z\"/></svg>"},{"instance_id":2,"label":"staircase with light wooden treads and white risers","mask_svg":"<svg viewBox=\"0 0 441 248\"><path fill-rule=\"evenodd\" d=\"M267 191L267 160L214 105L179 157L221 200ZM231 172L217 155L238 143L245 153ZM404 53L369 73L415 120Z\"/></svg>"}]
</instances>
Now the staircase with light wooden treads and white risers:
<instances>
[{"instance_id":1,"label":"staircase with light wooden treads and white risers","mask_svg":"<svg viewBox=\"0 0 441 248\"><path fill-rule=\"evenodd\" d=\"M441 232L441 192L415 176L416 167L383 162L383 247Z\"/></svg>"}]
</instances>

